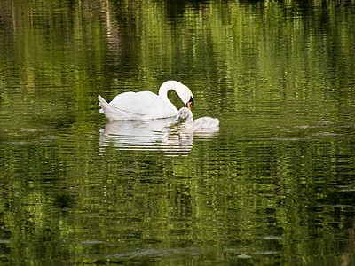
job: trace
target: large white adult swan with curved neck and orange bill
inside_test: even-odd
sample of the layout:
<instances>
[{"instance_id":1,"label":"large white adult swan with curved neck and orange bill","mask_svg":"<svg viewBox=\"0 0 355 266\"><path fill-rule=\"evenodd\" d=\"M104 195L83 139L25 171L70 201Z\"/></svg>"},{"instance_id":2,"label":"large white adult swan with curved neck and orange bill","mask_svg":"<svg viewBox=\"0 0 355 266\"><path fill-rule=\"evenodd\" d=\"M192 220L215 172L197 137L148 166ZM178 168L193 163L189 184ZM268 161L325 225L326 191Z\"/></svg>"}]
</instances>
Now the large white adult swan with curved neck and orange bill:
<instances>
[{"instance_id":1,"label":"large white adult swan with curved neck and orange bill","mask_svg":"<svg viewBox=\"0 0 355 266\"><path fill-rule=\"evenodd\" d=\"M177 116L177 107L168 98L169 90L175 90L186 107L193 106L191 90L176 81L163 82L159 95L151 91L123 92L109 104L99 95L99 106L108 121L149 120Z\"/></svg>"}]
</instances>

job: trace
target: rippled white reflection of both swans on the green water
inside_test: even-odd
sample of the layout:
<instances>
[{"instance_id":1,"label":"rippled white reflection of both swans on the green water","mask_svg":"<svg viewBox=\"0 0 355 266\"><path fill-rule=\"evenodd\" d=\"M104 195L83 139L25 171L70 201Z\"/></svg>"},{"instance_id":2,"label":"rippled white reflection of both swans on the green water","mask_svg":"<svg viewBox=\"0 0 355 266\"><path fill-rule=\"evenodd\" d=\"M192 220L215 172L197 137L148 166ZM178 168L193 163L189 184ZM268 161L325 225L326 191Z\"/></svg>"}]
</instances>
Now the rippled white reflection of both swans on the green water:
<instances>
[{"instance_id":1,"label":"rippled white reflection of both swans on the green water","mask_svg":"<svg viewBox=\"0 0 355 266\"><path fill-rule=\"evenodd\" d=\"M106 121L100 129L100 153L113 145L118 150L163 151L166 155L187 155L193 148L193 136L210 138L217 136L215 129L185 129L175 118L149 121Z\"/></svg>"}]
</instances>

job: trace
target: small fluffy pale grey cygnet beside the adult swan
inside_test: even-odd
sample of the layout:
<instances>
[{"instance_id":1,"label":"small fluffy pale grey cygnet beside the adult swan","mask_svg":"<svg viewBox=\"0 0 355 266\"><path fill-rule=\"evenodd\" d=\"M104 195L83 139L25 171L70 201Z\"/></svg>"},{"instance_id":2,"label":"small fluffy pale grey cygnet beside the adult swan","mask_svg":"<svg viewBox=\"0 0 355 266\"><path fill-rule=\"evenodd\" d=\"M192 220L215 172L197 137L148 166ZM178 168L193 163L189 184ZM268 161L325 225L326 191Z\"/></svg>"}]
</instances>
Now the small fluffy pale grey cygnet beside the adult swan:
<instances>
[{"instance_id":1,"label":"small fluffy pale grey cygnet beside the adult swan","mask_svg":"<svg viewBox=\"0 0 355 266\"><path fill-rule=\"evenodd\" d=\"M178 110L178 121L186 119L185 129L209 129L217 128L219 125L219 120L212 117L201 117L193 121L193 113L189 108L182 107Z\"/></svg>"}]
</instances>

